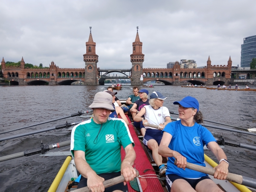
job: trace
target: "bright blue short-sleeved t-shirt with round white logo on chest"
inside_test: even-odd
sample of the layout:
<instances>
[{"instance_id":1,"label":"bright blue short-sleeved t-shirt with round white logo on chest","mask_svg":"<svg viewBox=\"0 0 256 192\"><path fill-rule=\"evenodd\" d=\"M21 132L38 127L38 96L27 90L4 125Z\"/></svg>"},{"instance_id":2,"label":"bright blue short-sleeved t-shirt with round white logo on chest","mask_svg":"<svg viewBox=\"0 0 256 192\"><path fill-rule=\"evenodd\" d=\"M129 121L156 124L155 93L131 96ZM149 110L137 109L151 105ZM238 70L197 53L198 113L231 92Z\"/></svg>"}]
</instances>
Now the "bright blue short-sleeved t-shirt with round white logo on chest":
<instances>
[{"instance_id":1,"label":"bright blue short-sleeved t-shirt with round white logo on chest","mask_svg":"<svg viewBox=\"0 0 256 192\"><path fill-rule=\"evenodd\" d=\"M192 127L186 127L181 124L181 121L170 122L163 129L172 135L172 140L169 148L179 152L186 157L187 162L194 163L200 166L205 166L204 163L204 145L215 141L211 132L207 128L195 122ZM162 132L163 132L162 131ZM174 164L174 157L168 157L166 175L175 174L185 178L200 178L206 174L197 172L191 169L181 169Z\"/></svg>"}]
</instances>

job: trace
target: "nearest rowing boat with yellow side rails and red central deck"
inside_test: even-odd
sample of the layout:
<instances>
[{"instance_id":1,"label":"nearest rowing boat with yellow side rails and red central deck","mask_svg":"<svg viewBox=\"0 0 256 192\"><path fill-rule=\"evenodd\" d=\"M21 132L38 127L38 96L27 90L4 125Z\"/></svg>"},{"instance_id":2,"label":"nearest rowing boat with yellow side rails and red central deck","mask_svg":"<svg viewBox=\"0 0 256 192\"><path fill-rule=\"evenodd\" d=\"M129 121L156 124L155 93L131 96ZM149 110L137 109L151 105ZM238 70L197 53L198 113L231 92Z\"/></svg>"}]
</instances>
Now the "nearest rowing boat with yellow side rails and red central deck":
<instances>
[{"instance_id":1,"label":"nearest rowing boat with yellow side rails and red central deck","mask_svg":"<svg viewBox=\"0 0 256 192\"><path fill-rule=\"evenodd\" d=\"M120 100L121 103L125 102ZM127 115L126 115L127 116ZM143 145L142 139L143 136L140 132L140 130L136 129L131 122L131 119L127 116L128 121L129 121L129 131L131 133L131 136L134 140L135 146L134 146L134 150L137 154L137 158L134 162L136 169L140 172L140 176L143 175L148 175L148 174L153 174L155 176L152 177L148 177L146 178L147 181L147 188L144 190L144 192L151 192L151 191L157 191L157 192L165 192L166 191L166 177L162 177L162 180L159 180L158 177L156 176L157 173L154 172L153 170L157 171L158 168L156 166L156 163L153 160L152 157L152 153L149 149L145 148L145 146ZM71 129L70 129L71 130ZM224 148L224 146L221 146L221 148ZM204 150L207 150L208 148L205 146ZM52 155L60 155L61 153L63 153L63 155L68 155L71 156L71 152L69 151L69 149L66 149L64 151L56 151L53 152L52 154L47 152L46 154L42 154L41 156L52 156ZM122 160L125 156L125 151L122 149L121 151L122 154ZM140 155L138 155L140 154ZM166 158L163 158L163 163L166 165ZM205 162L206 167L212 168L215 167L217 164L210 159L207 155L205 155ZM146 170L149 170L147 172L145 172ZM49 190L50 192L52 191L56 191L56 192L67 192L70 189L68 189L68 185L70 183L72 183L72 178L76 178L78 177L77 174L77 170L76 170L76 166L75 166L75 162L73 160L73 157L67 157L67 159L65 160L63 166L61 167L58 175L55 177L55 180L52 183L52 186L50 187L50 189L52 188L53 190ZM63 176L61 176L63 175ZM146 176L145 176L146 177ZM227 180L218 180L218 179L214 179L213 176L209 175L209 177L223 190L223 191L227 191L227 192L249 192L250 190L242 185L239 185L237 183L231 183ZM72 189L76 189L77 186L73 186ZM71 189L71 190L72 190ZM134 189L132 189L131 185L128 183L128 190L129 192L135 192Z\"/></svg>"}]
</instances>

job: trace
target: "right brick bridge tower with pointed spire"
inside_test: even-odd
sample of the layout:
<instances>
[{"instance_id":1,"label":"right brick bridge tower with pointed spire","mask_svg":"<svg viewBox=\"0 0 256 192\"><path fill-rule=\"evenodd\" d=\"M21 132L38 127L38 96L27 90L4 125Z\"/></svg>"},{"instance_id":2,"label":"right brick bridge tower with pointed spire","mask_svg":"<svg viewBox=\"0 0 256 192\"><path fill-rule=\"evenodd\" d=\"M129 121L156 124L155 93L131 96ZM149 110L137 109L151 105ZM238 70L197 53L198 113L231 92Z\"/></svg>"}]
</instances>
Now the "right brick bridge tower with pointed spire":
<instances>
[{"instance_id":1,"label":"right brick bridge tower with pointed spire","mask_svg":"<svg viewBox=\"0 0 256 192\"><path fill-rule=\"evenodd\" d=\"M131 56L131 84L132 85L143 85L143 80L140 80L140 76L143 75L144 54L142 53L142 42L137 27L137 35L135 41L132 43L133 52Z\"/></svg>"}]
</instances>

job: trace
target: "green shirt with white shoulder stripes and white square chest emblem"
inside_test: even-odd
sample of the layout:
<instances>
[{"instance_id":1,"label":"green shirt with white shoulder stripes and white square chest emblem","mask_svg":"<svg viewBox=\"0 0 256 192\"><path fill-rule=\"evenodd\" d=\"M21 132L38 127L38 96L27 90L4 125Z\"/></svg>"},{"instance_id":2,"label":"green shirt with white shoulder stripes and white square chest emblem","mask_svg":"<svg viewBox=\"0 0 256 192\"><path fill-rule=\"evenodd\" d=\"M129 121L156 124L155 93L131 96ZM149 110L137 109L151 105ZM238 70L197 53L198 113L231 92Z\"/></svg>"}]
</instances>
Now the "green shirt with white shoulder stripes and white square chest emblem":
<instances>
[{"instance_id":1,"label":"green shirt with white shoulder stripes and white square chest emblem","mask_svg":"<svg viewBox=\"0 0 256 192\"><path fill-rule=\"evenodd\" d=\"M109 117L107 122L97 124L89 119L73 128L70 151L73 156L74 150L84 151L87 163L96 174L119 172L121 146L125 148L131 143L134 145L124 120Z\"/></svg>"}]
</instances>

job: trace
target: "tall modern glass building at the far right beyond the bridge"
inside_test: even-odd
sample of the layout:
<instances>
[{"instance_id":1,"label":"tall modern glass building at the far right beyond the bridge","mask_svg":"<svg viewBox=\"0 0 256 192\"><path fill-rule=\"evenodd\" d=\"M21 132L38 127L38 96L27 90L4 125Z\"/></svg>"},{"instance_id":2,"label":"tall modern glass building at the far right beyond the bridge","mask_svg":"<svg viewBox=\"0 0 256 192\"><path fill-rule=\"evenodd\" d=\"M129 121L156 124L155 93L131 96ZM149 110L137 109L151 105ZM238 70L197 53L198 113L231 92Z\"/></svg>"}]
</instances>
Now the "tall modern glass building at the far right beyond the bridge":
<instances>
[{"instance_id":1,"label":"tall modern glass building at the far right beyond the bridge","mask_svg":"<svg viewBox=\"0 0 256 192\"><path fill-rule=\"evenodd\" d=\"M253 58L256 58L256 35L244 38L244 44L241 45L241 67L250 67Z\"/></svg>"}]
</instances>

